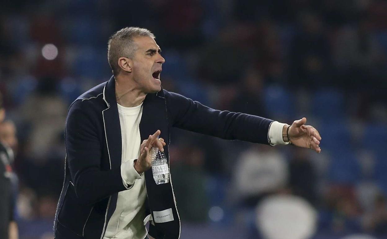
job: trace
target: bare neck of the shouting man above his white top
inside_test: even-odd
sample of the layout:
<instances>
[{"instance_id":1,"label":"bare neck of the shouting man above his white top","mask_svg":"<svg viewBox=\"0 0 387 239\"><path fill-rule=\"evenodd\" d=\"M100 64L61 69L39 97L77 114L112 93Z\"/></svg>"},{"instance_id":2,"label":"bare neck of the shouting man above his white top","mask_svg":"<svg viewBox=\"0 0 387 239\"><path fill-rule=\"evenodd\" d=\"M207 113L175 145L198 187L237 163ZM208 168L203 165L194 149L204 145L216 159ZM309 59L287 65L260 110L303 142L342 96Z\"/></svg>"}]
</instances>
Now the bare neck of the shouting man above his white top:
<instances>
[{"instance_id":1,"label":"bare neck of the shouting man above his white top","mask_svg":"<svg viewBox=\"0 0 387 239\"><path fill-rule=\"evenodd\" d=\"M118 104L123 107L135 107L144 101L146 93L136 88L131 79L122 79L122 77L116 76L115 83Z\"/></svg>"}]
</instances>

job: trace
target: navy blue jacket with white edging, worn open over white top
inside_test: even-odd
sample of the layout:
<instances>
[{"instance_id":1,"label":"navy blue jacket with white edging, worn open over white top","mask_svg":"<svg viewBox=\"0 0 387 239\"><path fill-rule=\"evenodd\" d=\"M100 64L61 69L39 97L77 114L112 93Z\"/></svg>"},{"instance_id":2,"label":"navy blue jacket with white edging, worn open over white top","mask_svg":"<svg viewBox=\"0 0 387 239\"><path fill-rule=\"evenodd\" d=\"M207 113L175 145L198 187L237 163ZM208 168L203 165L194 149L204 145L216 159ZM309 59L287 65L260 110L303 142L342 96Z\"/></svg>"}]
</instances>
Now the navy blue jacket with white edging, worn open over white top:
<instances>
[{"instance_id":1,"label":"navy blue jacket with white edging, worn open over white top","mask_svg":"<svg viewBox=\"0 0 387 239\"><path fill-rule=\"evenodd\" d=\"M182 95L161 90L148 94L140 122L141 141L161 130L168 158L171 127L223 139L268 143L272 120L214 110ZM56 239L102 238L116 208L118 192L127 190L121 178L121 129L115 97L115 79L101 83L75 100L68 110L65 179L54 222ZM171 175L172 178L172 175ZM171 208L174 220L150 225L156 239L178 239L178 216L172 179L156 185L152 170L145 172L147 211Z\"/></svg>"}]
</instances>

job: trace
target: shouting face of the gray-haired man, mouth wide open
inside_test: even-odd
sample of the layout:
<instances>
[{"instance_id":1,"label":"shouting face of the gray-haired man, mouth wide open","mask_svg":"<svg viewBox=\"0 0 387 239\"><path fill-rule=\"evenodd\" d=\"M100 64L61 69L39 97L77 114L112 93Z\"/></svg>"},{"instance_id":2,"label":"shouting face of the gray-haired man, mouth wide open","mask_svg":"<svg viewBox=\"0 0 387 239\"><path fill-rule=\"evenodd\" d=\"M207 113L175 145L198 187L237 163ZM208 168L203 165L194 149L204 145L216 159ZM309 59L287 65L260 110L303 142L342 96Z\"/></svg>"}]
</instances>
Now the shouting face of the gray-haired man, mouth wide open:
<instances>
[{"instance_id":1,"label":"shouting face of the gray-haired man, mouth wide open","mask_svg":"<svg viewBox=\"0 0 387 239\"><path fill-rule=\"evenodd\" d=\"M133 79L144 93L155 93L161 90L161 65L165 62L160 55L160 47L148 36L134 39L137 51L133 57Z\"/></svg>"}]
</instances>

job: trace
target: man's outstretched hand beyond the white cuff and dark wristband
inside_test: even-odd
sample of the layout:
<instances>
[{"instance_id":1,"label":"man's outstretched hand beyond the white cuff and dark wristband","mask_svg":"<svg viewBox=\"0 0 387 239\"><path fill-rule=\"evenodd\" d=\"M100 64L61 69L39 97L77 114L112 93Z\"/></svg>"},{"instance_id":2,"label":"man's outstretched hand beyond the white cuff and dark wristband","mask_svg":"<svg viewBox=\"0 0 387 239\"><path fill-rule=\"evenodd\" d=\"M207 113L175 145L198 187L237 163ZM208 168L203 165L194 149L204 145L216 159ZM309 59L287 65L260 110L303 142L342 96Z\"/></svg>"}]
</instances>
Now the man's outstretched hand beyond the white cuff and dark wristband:
<instances>
[{"instance_id":1,"label":"man's outstretched hand beyond the white cuff and dark wristband","mask_svg":"<svg viewBox=\"0 0 387 239\"><path fill-rule=\"evenodd\" d=\"M321 136L319 131L313 126L307 126L305 123L307 118L303 117L300 120L295 120L291 126L289 126L289 140L291 143L298 147L310 148L317 153L321 152L320 140Z\"/></svg>"}]
</instances>

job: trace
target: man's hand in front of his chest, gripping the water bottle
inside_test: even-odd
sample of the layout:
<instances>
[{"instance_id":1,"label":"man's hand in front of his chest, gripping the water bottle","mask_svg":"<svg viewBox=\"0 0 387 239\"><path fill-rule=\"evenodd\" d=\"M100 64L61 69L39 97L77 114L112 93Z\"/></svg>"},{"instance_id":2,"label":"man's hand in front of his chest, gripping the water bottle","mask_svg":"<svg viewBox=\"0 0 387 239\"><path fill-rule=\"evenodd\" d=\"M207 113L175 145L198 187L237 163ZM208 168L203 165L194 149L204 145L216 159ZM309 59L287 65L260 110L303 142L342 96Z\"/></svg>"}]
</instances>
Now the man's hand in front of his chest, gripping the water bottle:
<instances>
[{"instance_id":1,"label":"man's hand in front of his chest, gripping the water bottle","mask_svg":"<svg viewBox=\"0 0 387 239\"><path fill-rule=\"evenodd\" d=\"M140 145L140 157L134 161L134 169L139 174L142 174L152 167L153 159L149 153L149 150L152 147L158 147L161 152L164 152L166 143L163 138L158 138L160 134L161 131L157 130L154 134L149 135L148 139L142 141L142 144Z\"/></svg>"}]
</instances>

